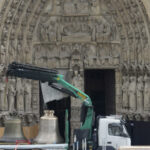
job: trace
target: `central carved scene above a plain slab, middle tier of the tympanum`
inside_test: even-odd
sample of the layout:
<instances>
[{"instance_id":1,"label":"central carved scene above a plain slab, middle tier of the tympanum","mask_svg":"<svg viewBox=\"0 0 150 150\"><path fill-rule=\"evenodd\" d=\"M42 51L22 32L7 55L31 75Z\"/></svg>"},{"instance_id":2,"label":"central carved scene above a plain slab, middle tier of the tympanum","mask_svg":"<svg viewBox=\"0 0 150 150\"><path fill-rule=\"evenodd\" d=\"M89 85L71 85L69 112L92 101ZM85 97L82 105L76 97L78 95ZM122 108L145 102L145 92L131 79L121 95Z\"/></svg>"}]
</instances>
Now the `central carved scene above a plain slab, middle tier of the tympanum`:
<instances>
[{"instance_id":1,"label":"central carved scene above a plain slab, middle tier of the tympanum","mask_svg":"<svg viewBox=\"0 0 150 150\"><path fill-rule=\"evenodd\" d=\"M93 31L88 17L62 17L60 28L62 42L91 41Z\"/></svg>"}]
</instances>

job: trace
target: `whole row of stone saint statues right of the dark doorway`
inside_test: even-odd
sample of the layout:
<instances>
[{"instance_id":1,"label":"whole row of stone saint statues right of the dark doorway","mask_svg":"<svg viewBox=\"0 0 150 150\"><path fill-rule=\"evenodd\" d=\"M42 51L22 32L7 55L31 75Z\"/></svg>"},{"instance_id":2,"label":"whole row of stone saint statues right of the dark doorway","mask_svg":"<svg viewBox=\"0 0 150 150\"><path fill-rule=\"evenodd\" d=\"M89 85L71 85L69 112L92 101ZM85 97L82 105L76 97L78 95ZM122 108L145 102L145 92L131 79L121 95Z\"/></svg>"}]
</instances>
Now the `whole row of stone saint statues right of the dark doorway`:
<instances>
[{"instance_id":1,"label":"whole row of stone saint statues right of the dark doorway","mask_svg":"<svg viewBox=\"0 0 150 150\"><path fill-rule=\"evenodd\" d=\"M150 76L122 76L122 107L133 112L150 110Z\"/></svg>"}]
</instances>

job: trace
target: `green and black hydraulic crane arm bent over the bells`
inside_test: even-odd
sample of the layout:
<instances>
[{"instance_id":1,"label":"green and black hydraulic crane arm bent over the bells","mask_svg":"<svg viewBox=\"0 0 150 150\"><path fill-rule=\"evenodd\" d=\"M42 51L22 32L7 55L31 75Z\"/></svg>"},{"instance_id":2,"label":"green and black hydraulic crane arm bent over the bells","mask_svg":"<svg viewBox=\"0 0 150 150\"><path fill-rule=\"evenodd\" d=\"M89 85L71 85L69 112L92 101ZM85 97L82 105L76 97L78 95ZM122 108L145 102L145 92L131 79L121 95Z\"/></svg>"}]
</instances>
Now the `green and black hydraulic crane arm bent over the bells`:
<instances>
[{"instance_id":1,"label":"green and black hydraulic crane arm bent over the bells","mask_svg":"<svg viewBox=\"0 0 150 150\"><path fill-rule=\"evenodd\" d=\"M89 129L91 131L93 108L90 97L65 81L63 79L64 76L59 74L56 70L13 62L9 64L6 76L14 76L32 80L39 80L41 82L48 82L52 88L80 99L83 102L83 105L87 108L86 117L80 129Z\"/></svg>"}]
</instances>

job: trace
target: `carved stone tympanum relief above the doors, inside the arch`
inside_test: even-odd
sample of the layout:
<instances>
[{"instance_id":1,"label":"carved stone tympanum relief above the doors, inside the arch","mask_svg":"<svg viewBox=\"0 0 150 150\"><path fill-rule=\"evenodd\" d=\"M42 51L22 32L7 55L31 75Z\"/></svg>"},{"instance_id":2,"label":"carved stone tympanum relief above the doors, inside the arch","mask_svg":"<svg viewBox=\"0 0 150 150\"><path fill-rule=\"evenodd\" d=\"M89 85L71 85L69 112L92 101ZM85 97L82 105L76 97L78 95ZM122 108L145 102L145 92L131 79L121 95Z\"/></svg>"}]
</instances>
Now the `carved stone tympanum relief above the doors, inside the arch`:
<instances>
[{"instance_id":1,"label":"carved stone tympanum relief above the doors, inside the arch","mask_svg":"<svg viewBox=\"0 0 150 150\"><path fill-rule=\"evenodd\" d=\"M101 13L99 3L98 0L54 2L50 8L52 14L56 12L56 5L61 13L51 16L44 12L40 17L34 44L36 64L69 68L71 54L78 46L86 67L118 65L117 26L111 15Z\"/></svg>"}]
</instances>

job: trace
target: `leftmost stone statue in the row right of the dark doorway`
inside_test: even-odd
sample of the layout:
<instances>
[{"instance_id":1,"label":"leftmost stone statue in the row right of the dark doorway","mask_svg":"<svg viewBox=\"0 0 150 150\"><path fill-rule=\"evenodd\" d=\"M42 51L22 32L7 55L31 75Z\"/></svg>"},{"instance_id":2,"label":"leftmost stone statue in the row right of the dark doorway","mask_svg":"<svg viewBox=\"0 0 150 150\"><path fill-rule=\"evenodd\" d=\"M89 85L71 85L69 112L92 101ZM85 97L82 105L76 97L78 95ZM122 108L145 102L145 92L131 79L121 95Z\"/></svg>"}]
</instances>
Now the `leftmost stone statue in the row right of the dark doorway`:
<instances>
[{"instance_id":1,"label":"leftmost stone statue in the row right of the dark doorway","mask_svg":"<svg viewBox=\"0 0 150 150\"><path fill-rule=\"evenodd\" d=\"M129 77L123 76L122 77L123 83L122 83L122 106L125 109L129 108L129 99L128 99L128 88L129 88Z\"/></svg>"}]
</instances>

